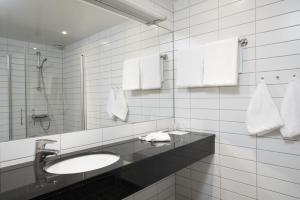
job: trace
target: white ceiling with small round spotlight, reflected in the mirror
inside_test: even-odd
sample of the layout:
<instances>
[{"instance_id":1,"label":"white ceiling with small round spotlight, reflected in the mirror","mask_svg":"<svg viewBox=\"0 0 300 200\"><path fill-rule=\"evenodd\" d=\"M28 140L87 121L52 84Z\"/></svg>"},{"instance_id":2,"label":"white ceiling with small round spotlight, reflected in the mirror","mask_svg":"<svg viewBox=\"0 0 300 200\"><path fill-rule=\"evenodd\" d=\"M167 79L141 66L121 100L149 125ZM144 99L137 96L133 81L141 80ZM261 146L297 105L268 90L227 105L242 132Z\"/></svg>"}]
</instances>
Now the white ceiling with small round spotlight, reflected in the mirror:
<instances>
[{"instance_id":1,"label":"white ceiling with small round spotlight, reflected in the mirror","mask_svg":"<svg viewBox=\"0 0 300 200\"><path fill-rule=\"evenodd\" d=\"M126 20L80 0L0 0L0 37L22 41L68 45Z\"/></svg>"}]
</instances>

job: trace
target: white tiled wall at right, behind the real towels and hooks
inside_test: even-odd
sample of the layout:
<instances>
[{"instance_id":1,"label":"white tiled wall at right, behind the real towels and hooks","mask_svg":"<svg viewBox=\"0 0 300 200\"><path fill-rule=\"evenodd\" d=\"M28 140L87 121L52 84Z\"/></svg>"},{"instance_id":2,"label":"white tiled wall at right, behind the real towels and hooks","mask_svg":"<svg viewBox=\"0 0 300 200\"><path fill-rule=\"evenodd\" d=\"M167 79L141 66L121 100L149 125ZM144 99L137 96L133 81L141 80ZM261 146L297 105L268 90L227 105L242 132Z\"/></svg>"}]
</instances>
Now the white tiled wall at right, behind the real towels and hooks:
<instances>
[{"instance_id":1,"label":"white tiled wall at right, behind the real towels and hooks","mask_svg":"<svg viewBox=\"0 0 300 200\"><path fill-rule=\"evenodd\" d=\"M175 89L176 121L213 132L216 154L176 175L176 199L300 199L300 142L275 131L249 136L245 112L260 77L279 106L300 76L299 0L174 0L176 51L232 36L247 38L237 87ZM276 78L279 76L279 79Z\"/></svg>"}]
</instances>

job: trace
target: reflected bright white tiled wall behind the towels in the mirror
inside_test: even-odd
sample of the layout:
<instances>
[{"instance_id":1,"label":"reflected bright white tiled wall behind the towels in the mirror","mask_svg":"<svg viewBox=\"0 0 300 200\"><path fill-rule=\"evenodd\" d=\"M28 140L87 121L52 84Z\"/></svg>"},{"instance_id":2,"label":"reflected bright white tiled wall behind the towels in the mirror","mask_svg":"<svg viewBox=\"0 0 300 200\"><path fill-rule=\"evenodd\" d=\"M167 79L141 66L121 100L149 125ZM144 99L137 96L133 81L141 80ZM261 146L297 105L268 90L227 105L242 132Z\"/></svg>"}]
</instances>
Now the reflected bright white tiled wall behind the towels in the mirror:
<instances>
[{"instance_id":1,"label":"reflected bright white tiled wall behind the towels in the mirror","mask_svg":"<svg viewBox=\"0 0 300 200\"><path fill-rule=\"evenodd\" d=\"M157 1L157 3L160 3ZM167 6L167 4L169 5ZM153 2L152 2L153 4ZM152 5L151 4L151 5ZM172 2L156 8L169 17L172 26ZM154 4L153 4L154 5ZM172 110L172 34L157 27L127 22L67 46L64 50L64 130L78 130L80 125L80 55L85 55L88 129L124 124L113 121L106 113L109 89L121 87L122 63L125 59L153 52L168 54L164 63L164 84L161 90L127 92L129 122L171 117ZM74 105L76 108L74 109Z\"/></svg>"}]
</instances>

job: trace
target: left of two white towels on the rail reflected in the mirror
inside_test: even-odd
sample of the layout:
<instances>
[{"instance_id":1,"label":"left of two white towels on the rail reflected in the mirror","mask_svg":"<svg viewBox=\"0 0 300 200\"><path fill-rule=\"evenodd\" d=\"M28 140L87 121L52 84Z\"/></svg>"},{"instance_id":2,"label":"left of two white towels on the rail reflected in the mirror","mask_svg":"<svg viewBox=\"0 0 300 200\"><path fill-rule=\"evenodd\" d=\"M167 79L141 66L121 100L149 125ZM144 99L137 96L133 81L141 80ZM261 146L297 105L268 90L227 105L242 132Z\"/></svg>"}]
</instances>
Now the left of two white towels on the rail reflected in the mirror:
<instances>
[{"instance_id":1,"label":"left of two white towels on the rail reflected in the mirror","mask_svg":"<svg viewBox=\"0 0 300 200\"><path fill-rule=\"evenodd\" d=\"M140 89L140 59L132 58L123 63L123 90Z\"/></svg>"}]
</instances>

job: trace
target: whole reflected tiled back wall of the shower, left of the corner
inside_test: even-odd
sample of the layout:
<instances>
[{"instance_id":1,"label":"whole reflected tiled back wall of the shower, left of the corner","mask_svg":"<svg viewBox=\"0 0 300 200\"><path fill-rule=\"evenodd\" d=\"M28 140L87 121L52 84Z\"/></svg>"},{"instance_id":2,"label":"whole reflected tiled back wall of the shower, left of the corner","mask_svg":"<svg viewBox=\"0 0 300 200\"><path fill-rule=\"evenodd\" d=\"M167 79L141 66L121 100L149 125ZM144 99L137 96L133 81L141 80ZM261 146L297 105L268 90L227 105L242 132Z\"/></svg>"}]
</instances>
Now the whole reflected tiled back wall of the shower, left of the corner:
<instances>
[{"instance_id":1,"label":"whole reflected tiled back wall of the shower, left of the corner","mask_svg":"<svg viewBox=\"0 0 300 200\"><path fill-rule=\"evenodd\" d=\"M34 125L32 109L36 114L46 113L46 102L43 93L37 87L37 57L33 50L41 51L42 58L47 57L44 77L50 103L51 127L45 133L39 124ZM11 56L12 68L12 106L13 106L13 139L26 137L25 120L25 73L27 73L27 105L28 105L28 136L41 136L62 132L62 51L56 48L0 38L0 141L8 140L8 70L6 55ZM26 58L26 59L25 59ZM26 60L26 63L25 63ZM26 67L25 67L26 66ZM22 110L22 122L21 122Z\"/></svg>"}]
</instances>

